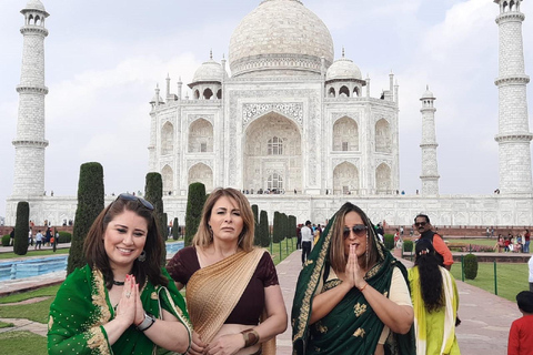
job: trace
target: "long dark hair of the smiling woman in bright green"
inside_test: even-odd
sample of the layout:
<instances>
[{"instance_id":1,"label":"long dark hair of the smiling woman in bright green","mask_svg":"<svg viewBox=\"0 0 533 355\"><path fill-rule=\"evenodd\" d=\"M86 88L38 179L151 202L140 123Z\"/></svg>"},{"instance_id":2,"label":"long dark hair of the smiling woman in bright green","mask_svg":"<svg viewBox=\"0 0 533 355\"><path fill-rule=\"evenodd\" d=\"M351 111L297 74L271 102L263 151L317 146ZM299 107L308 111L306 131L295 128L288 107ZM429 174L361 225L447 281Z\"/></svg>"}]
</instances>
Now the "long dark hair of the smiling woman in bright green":
<instances>
[{"instance_id":1,"label":"long dark hair of the smiling woman in bright green","mask_svg":"<svg viewBox=\"0 0 533 355\"><path fill-rule=\"evenodd\" d=\"M87 263L91 268L98 268L105 280L105 286L109 288L113 285L113 271L109 264L109 257L103 245L103 235L109 222L124 211L132 211L137 215L143 217L148 224L147 242L144 244L145 261L135 260L130 273L135 276L139 288L148 281L153 285L167 286L169 281L161 273L162 263L162 241L159 233L158 223L152 211L147 209L139 200L124 200L119 196L109 206L103 209L92 223L83 244L83 253Z\"/></svg>"}]
</instances>

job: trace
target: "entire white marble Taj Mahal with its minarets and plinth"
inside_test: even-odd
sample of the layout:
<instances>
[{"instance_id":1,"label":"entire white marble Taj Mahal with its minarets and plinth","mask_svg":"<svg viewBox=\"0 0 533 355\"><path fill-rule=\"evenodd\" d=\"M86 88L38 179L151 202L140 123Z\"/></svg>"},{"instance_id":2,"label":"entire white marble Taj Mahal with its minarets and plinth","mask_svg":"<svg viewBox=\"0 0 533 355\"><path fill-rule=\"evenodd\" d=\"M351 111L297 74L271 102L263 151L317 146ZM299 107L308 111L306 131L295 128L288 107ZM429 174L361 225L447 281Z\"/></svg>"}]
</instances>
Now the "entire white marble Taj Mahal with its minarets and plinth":
<instances>
[{"instance_id":1,"label":"entire white marble Taj Mahal with its minarets and plinth","mask_svg":"<svg viewBox=\"0 0 533 355\"><path fill-rule=\"evenodd\" d=\"M208 193L237 187L270 216L280 211L298 221L322 223L352 201L372 220L395 225L410 225L420 212L436 225L533 224L525 17L521 0L494 2L500 33L497 194L439 193L436 98L428 88L420 95L420 194L402 196L401 90L394 74L381 95L371 97L371 78L363 78L344 50L334 53L329 29L302 1L263 0L234 29L228 59L217 61L211 54L185 83L191 97L181 80L172 83L167 77L165 87L155 88L149 101L147 173L162 175L164 212L184 221L189 184L202 182ZM73 219L76 197L43 196L43 174L31 172L31 166L44 166L48 145L43 52L49 14L39 0L30 0L21 12L14 183L6 223L14 225L17 203L28 201L30 219L59 224Z\"/></svg>"}]
</instances>

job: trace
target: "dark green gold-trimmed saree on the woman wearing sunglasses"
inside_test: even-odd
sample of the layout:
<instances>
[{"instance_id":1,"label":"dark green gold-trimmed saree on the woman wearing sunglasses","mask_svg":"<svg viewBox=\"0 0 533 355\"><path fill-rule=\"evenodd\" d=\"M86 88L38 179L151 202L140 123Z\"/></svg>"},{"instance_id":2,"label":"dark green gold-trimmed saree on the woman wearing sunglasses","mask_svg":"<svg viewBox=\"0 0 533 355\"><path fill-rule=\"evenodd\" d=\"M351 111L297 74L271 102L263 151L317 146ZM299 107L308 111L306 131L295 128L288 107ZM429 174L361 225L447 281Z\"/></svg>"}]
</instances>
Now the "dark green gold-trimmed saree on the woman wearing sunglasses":
<instances>
[{"instance_id":1,"label":"dark green gold-trimmed saree on the woman wearing sunglasses","mask_svg":"<svg viewBox=\"0 0 533 355\"><path fill-rule=\"evenodd\" d=\"M300 273L294 295L291 321L293 327L293 354L373 355L384 324L368 304L363 294L352 288L344 298L322 320L308 325L313 297L339 285L340 280L328 280L332 219L314 246L304 268ZM370 237L378 239L374 231ZM366 282L389 295L394 267L402 272L408 285L405 267L398 262L381 242L379 262L365 275ZM321 286L321 290L318 287ZM414 355L414 332L400 335L390 333L384 344L385 354Z\"/></svg>"}]
</instances>

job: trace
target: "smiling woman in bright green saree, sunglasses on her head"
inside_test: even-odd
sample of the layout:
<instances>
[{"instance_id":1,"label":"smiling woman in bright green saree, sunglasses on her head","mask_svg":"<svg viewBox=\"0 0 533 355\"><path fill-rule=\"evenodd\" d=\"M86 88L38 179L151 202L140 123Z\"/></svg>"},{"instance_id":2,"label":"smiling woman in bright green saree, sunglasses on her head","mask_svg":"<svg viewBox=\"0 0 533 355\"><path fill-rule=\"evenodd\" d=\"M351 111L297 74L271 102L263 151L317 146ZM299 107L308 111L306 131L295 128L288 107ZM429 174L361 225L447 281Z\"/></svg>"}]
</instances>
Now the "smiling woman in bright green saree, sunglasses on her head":
<instances>
[{"instance_id":1,"label":"smiling woman in bright green saree, sunglasses on her head","mask_svg":"<svg viewBox=\"0 0 533 355\"><path fill-rule=\"evenodd\" d=\"M162 267L162 241L145 200L121 194L92 224L87 265L50 305L49 354L185 353L192 328Z\"/></svg>"}]
</instances>

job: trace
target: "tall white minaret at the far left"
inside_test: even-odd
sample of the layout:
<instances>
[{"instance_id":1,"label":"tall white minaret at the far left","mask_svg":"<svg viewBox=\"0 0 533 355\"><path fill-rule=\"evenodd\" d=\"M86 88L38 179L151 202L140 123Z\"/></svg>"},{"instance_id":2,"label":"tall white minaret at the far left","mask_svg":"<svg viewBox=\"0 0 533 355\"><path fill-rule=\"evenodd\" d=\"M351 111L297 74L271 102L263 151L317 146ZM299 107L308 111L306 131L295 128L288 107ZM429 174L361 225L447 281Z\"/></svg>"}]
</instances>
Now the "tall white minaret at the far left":
<instances>
[{"instance_id":1,"label":"tall white minaret at the far left","mask_svg":"<svg viewBox=\"0 0 533 355\"><path fill-rule=\"evenodd\" d=\"M22 70L19 93L19 113L14 145L14 179L11 197L42 196L44 192L44 20L49 13L39 0L30 0L20 11L24 26Z\"/></svg>"}]
</instances>

